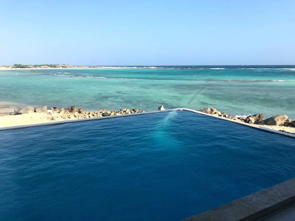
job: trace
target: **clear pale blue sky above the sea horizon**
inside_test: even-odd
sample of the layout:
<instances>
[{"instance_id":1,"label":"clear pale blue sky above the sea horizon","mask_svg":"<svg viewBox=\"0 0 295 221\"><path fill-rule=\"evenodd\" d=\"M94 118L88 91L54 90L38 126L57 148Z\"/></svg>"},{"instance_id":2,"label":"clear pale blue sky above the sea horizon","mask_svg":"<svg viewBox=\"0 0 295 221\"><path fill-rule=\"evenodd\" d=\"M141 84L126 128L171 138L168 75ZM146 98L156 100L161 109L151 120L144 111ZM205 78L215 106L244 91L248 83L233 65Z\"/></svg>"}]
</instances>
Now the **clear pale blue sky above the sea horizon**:
<instances>
[{"instance_id":1,"label":"clear pale blue sky above the sea horizon","mask_svg":"<svg viewBox=\"0 0 295 221\"><path fill-rule=\"evenodd\" d=\"M294 10L294 0L0 0L0 65L294 65Z\"/></svg>"}]
</instances>

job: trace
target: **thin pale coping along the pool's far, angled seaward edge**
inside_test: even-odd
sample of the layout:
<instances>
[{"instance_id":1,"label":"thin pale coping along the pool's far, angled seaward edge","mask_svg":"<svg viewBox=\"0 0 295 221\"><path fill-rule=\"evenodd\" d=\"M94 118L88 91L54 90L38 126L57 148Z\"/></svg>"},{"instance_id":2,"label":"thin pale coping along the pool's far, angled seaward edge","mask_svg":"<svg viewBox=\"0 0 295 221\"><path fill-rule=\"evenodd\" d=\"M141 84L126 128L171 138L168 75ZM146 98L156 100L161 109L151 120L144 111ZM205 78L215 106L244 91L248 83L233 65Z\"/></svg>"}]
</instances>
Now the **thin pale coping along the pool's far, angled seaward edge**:
<instances>
[{"instance_id":1,"label":"thin pale coping along the pool's far, angled seaward edge","mask_svg":"<svg viewBox=\"0 0 295 221\"><path fill-rule=\"evenodd\" d=\"M104 120L104 119L108 119L108 118L128 117L128 116L136 116L136 115L141 115L141 114L152 114L152 113L160 113L160 112L175 111L175 110L186 110L186 111L190 111L190 112L193 112L193 113L199 113L199 114L202 114L202 115L207 115L207 116L210 116L210 117L219 118L219 119L224 120L224 121L231 121L231 122L234 122L234 123L242 124L242 125L252 127L252 128L255 128L255 129L258 129L258 130L268 131L268 132L271 132L271 133L278 133L278 134L281 134L281 135L284 135L284 136L295 138L295 134L292 134L292 133L286 133L286 132L283 132L283 131L276 131L276 130L273 130L273 129L270 129L270 128L261 127L261 126L256 125L256 124L250 124L250 123L236 121L236 120L232 120L232 119L228 119L228 118L224 118L224 117L219 117L219 116L215 116L215 115L208 114L208 113L203 113L203 112L188 109L188 108L174 108L174 109L168 109L168 110L155 110L155 111L147 111L147 112L131 113L131 114L121 114L121 115L114 115L114 116L107 116L107 117L95 117L95 118L88 118L88 119L77 119L77 120L68 120L68 121L56 121L56 122L49 122L49 123L37 123L37 124L30 124L30 125L3 127L3 128L0 128L0 131L11 130L11 129L20 129L20 128L28 128L28 127L36 127L36 126L63 124L63 123L75 123L75 122L81 122L81 121Z\"/></svg>"}]
</instances>

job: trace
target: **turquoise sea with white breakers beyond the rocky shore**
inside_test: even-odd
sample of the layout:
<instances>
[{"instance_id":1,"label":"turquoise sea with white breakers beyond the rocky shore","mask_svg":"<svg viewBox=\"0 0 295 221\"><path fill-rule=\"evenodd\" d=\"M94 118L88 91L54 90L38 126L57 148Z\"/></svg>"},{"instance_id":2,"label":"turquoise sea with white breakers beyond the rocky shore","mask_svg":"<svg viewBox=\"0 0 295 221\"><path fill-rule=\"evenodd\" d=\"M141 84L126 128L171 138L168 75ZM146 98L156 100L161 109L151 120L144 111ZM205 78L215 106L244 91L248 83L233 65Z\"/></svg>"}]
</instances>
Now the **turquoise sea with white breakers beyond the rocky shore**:
<instances>
[{"instance_id":1,"label":"turquoise sea with white breakers beyond the rocky shore","mask_svg":"<svg viewBox=\"0 0 295 221\"><path fill-rule=\"evenodd\" d=\"M295 119L295 66L139 67L0 70L0 102L87 110L209 106L233 116Z\"/></svg>"}]
</instances>

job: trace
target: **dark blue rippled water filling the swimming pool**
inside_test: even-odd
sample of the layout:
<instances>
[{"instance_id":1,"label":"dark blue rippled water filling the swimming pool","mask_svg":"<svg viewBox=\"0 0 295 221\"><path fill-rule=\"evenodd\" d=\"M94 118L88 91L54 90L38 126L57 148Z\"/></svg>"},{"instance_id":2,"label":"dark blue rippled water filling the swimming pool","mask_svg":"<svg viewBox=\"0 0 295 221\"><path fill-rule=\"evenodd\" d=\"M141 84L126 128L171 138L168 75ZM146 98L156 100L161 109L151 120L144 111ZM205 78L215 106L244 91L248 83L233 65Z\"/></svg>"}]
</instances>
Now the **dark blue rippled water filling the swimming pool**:
<instances>
[{"instance_id":1,"label":"dark blue rippled water filling the swimming pool","mask_svg":"<svg viewBox=\"0 0 295 221\"><path fill-rule=\"evenodd\" d=\"M294 144L188 111L0 131L0 220L181 220L295 177Z\"/></svg>"}]
</instances>

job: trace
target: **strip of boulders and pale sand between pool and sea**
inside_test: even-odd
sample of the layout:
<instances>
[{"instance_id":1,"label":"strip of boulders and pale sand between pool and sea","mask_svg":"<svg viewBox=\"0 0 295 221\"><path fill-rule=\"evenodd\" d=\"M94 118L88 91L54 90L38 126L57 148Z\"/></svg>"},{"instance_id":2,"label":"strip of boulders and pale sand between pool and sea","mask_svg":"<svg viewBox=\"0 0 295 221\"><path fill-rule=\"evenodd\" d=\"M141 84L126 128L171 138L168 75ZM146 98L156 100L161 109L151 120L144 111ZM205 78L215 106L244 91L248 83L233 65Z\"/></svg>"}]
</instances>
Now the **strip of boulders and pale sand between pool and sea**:
<instances>
[{"instance_id":1,"label":"strip of boulders and pale sand between pool and sea","mask_svg":"<svg viewBox=\"0 0 295 221\"><path fill-rule=\"evenodd\" d=\"M158 110L165 110L163 106L160 106ZM216 110L215 108L203 108L199 109L198 111L212 114L214 116L219 116L223 118L232 119L239 122L249 123L249 124L257 124L262 127L267 127L279 131L289 132L289 133L295 133L295 121L288 119L288 116L286 115L277 115L272 116L270 118L264 119L264 116L262 113L257 113L254 115L250 115L247 117L234 117L232 115L228 115L224 112L220 112ZM145 112L144 110L139 110L137 108L134 109L126 109L122 108L119 111L116 110L106 110L106 109L98 109L96 111L87 111L83 108L78 108L76 106L70 106L68 108L58 108L58 107L33 107L33 106L27 106L24 108L14 108L14 112L8 112L8 113L0 113L0 116L9 116L9 115L24 115L22 120L26 118L25 116L28 116L27 118L37 118L38 114L43 114L43 118L45 118L42 122L45 121L67 121L67 120L75 120L75 119L87 119L87 118L98 118L98 117L106 117L106 116L115 116L115 115L123 115L123 114L132 114L132 113L142 113ZM30 116L30 117L29 117ZM30 121L28 119L25 119L27 121ZM39 121L38 121L39 123ZM34 124L32 122L31 124ZM10 124L6 124L10 125ZM22 122L19 122L18 125L23 125ZM11 125L16 126L16 125ZM0 127L4 127L0 125Z\"/></svg>"}]
</instances>

